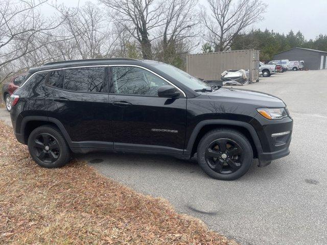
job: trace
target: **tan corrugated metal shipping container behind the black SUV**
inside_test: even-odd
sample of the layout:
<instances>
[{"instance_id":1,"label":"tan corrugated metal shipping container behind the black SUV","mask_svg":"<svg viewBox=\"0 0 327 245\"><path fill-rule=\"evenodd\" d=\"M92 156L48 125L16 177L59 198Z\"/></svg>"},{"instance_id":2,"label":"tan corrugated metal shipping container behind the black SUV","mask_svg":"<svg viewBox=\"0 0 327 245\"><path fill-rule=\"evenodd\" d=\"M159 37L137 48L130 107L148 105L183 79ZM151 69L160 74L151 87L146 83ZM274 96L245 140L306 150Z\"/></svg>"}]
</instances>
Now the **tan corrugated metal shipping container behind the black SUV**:
<instances>
[{"instance_id":1,"label":"tan corrugated metal shipping container behind the black SUV","mask_svg":"<svg viewBox=\"0 0 327 245\"><path fill-rule=\"evenodd\" d=\"M250 82L259 81L259 50L238 50L186 56L186 72L204 80L220 80L225 70L249 69Z\"/></svg>"}]
</instances>

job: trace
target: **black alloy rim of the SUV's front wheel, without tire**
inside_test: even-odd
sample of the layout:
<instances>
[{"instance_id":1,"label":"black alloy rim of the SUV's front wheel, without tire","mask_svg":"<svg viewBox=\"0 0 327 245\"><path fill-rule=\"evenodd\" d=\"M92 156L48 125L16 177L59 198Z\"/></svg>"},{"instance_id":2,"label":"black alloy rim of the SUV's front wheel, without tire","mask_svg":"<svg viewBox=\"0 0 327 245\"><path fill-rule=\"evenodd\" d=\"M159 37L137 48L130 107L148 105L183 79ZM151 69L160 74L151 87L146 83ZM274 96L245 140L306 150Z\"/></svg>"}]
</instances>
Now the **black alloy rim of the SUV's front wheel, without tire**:
<instances>
[{"instance_id":1,"label":"black alloy rim of the SUV's front wheel, without tire","mask_svg":"<svg viewBox=\"0 0 327 245\"><path fill-rule=\"evenodd\" d=\"M242 148L231 139L216 139L208 145L205 160L210 168L220 174L231 174L242 165Z\"/></svg>"}]
</instances>

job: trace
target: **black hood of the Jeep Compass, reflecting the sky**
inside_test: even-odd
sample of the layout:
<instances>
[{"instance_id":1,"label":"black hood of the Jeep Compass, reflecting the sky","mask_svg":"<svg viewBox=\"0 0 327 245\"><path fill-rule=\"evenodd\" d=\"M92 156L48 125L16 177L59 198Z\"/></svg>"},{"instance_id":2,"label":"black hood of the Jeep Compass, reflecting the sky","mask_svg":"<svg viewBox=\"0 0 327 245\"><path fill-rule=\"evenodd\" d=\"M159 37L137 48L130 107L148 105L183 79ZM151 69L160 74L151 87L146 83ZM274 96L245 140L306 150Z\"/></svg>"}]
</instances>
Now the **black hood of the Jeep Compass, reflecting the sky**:
<instances>
[{"instance_id":1,"label":"black hood of the Jeep Compass, reflecting the sky","mask_svg":"<svg viewBox=\"0 0 327 245\"><path fill-rule=\"evenodd\" d=\"M220 88L206 94L212 100L251 104L258 107L281 108L286 106L285 103L276 96L252 90Z\"/></svg>"}]
</instances>

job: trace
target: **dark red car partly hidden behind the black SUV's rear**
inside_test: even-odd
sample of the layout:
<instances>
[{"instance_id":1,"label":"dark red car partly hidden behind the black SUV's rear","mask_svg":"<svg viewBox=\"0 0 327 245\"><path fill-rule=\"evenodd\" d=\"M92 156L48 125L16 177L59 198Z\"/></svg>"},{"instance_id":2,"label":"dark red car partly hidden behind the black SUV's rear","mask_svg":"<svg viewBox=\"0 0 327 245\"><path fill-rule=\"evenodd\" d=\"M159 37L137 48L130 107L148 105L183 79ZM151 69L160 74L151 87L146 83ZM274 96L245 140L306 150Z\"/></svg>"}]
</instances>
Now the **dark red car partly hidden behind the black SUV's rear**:
<instances>
[{"instance_id":1,"label":"dark red car partly hidden behind the black SUV's rear","mask_svg":"<svg viewBox=\"0 0 327 245\"><path fill-rule=\"evenodd\" d=\"M11 110L10 95L19 87L24 81L26 74L19 74L7 79L2 87L2 99L5 102L8 111Z\"/></svg>"}]
</instances>

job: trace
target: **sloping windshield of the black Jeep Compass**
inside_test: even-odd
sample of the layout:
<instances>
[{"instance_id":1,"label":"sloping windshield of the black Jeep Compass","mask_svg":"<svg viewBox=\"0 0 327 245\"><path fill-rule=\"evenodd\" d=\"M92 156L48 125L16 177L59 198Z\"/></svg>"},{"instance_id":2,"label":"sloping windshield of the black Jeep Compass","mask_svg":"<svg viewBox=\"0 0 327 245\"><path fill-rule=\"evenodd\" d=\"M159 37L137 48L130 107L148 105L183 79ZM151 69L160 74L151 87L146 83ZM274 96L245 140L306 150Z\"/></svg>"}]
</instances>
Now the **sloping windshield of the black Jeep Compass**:
<instances>
[{"instance_id":1,"label":"sloping windshield of the black Jeep Compass","mask_svg":"<svg viewBox=\"0 0 327 245\"><path fill-rule=\"evenodd\" d=\"M185 86L188 86L193 90L203 88L211 89L211 86L209 86L207 83L192 77L190 74L176 68L175 66L159 62L151 65L155 66L157 69L161 70L162 72L165 72L167 75L171 76L178 82L184 84Z\"/></svg>"}]
</instances>

